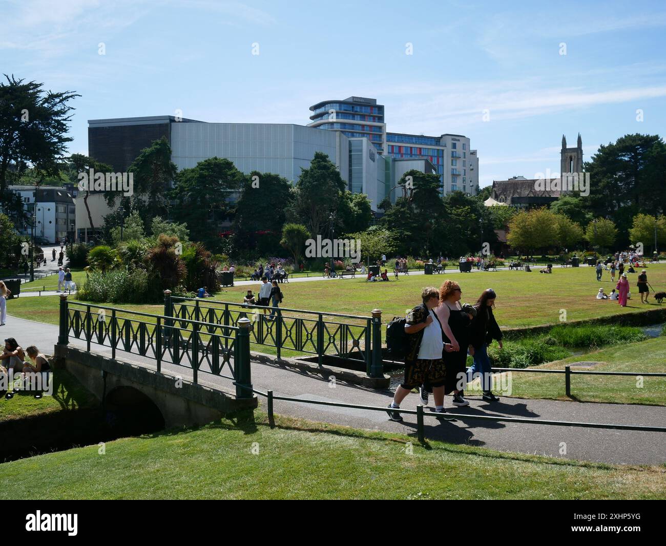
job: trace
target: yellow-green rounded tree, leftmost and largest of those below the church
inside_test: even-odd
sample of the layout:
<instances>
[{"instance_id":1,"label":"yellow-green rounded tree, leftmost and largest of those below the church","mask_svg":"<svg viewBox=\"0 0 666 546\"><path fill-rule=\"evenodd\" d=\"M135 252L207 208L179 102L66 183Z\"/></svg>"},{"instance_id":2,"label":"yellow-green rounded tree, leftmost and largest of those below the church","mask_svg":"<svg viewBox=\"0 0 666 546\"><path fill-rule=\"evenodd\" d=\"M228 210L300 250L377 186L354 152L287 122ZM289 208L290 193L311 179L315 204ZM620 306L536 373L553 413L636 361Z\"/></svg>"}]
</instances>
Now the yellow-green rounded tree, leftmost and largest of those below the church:
<instances>
[{"instance_id":1,"label":"yellow-green rounded tree, leftmost and largest of those below the church","mask_svg":"<svg viewBox=\"0 0 666 546\"><path fill-rule=\"evenodd\" d=\"M557 216L547 208L520 210L509 220L507 243L532 254L535 250L555 246L558 242Z\"/></svg>"}]
</instances>

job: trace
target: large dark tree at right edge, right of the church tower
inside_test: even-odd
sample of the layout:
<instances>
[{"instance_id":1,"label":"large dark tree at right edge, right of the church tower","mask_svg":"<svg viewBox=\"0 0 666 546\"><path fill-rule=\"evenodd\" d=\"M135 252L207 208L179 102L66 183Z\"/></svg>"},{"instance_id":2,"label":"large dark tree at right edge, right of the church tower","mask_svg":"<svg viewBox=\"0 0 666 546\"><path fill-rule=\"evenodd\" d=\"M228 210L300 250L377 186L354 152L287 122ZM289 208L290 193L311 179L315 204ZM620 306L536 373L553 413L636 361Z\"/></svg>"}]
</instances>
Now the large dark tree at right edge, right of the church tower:
<instances>
[{"instance_id":1,"label":"large dark tree at right edge, right of the church tower","mask_svg":"<svg viewBox=\"0 0 666 546\"><path fill-rule=\"evenodd\" d=\"M612 220L622 234L633 217L663 213L666 203L666 146L659 135L625 135L599 150L585 164L593 214Z\"/></svg>"}]
</instances>

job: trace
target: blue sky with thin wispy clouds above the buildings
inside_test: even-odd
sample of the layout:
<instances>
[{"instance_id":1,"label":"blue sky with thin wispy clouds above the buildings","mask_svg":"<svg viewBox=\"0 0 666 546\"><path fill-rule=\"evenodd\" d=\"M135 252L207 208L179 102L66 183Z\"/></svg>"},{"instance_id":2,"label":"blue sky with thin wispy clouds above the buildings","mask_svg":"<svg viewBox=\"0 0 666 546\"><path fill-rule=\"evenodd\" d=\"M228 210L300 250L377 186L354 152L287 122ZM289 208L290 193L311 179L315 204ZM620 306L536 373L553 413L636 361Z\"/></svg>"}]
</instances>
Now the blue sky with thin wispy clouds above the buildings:
<instances>
[{"instance_id":1,"label":"blue sky with thin wispy clouds above the buildings","mask_svg":"<svg viewBox=\"0 0 666 546\"><path fill-rule=\"evenodd\" d=\"M663 1L0 0L1 71L82 95L71 152L89 119L306 125L358 95L388 131L469 136L482 186L558 172L563 133L585 159L663 136L665 51Z\"/></svg>"}]
</instances>

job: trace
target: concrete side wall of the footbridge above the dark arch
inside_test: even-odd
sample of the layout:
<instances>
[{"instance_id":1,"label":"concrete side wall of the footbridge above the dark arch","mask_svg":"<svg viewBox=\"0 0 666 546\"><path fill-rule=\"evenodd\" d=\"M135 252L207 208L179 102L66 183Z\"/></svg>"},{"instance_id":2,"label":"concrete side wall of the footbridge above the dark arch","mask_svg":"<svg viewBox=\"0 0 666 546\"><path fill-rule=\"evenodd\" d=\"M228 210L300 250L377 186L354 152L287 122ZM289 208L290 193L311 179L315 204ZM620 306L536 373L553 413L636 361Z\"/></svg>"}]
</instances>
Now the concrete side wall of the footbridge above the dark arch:
<instances>
[{"instance_id":1,"label":"concrete side wall of the footbridge above the dark arch","mask_svg":"<svg viewBox=\"0 0 666 546\"><path fill-rule=\"evenodd\" d=\"M220 419L226 413L257 406L256 396L238 400L232 393L184 380L182 386L176 387L174 376L158 374L154 370L71 346L56 345L54 356L57 366L63 366L100 400L105 392L109 394L120 386L143 392L161 411L166 428L203 425Z\"/></svg>"}]
</instances>

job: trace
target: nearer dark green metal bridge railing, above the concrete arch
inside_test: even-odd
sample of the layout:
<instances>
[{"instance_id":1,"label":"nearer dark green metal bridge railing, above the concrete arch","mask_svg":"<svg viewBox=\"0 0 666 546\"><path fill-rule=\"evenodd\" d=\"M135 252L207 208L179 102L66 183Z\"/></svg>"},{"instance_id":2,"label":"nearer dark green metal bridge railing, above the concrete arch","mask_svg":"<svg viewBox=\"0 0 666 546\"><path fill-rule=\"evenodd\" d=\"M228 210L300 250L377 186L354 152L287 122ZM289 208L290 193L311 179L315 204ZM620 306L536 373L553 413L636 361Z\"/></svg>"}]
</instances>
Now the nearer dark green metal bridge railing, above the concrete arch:
<instances>
[{"instance_id":1,"label":"nearer dark green metal bridge railing, above the concrete arch","mask_svg":"<svg viewBox=\"0 0 666 546\"><path fill-rule=\"evenodd\" d=\"M60 298L59 344L73 337L117 351L138 354L162 364L192 370L192 382L204 372L231 380L238 398L252 397L250 373L250 320L241 318L235 326L152 315L119 308L68 302Z\"/></svg>"}]
</instances>

